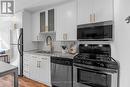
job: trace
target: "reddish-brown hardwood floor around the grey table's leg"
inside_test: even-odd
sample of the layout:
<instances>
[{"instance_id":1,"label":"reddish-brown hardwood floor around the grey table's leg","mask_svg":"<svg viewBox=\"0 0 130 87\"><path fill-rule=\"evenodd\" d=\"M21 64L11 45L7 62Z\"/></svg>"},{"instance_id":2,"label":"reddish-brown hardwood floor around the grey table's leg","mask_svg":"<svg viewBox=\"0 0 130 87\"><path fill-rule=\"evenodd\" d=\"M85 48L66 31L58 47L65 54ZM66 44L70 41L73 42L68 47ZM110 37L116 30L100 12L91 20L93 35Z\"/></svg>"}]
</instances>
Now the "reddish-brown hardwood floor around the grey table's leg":
<instances>
[{"instance_id":1,"label":"reddish-brown hardwood floor around the grey table's leg","mask_svg":"<svg viewBox=\"0 0 130 87\"><path fill-rule=\"evenodd\" d=\"M0 78L0 87L13 87L13 77L7 75ZM44 84L27 79L25 77L19 77L19 87L47 87Z\"/></svg>"}]
</instances>

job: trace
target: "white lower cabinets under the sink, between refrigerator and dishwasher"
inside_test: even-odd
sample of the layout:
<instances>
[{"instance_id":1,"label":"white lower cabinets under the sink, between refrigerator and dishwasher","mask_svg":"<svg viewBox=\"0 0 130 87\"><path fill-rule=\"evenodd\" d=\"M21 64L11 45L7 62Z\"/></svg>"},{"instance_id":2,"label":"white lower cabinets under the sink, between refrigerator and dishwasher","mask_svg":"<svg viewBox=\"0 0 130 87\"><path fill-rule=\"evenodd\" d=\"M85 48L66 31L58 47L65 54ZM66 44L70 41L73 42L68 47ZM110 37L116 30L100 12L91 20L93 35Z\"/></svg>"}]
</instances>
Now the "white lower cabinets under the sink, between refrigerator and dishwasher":
<instances>
[{"instance_id":1,"label":"white lower cabinets under the sink, between refrigerator and dishwasher","mask_svg":"<svg viewBox=\"0 0 130 87\"><path fill-rule=\"evenodd\" d=\"M24 54L23 74L27 78L51 86L50 56Z\"/></svg>"}]
</instances>

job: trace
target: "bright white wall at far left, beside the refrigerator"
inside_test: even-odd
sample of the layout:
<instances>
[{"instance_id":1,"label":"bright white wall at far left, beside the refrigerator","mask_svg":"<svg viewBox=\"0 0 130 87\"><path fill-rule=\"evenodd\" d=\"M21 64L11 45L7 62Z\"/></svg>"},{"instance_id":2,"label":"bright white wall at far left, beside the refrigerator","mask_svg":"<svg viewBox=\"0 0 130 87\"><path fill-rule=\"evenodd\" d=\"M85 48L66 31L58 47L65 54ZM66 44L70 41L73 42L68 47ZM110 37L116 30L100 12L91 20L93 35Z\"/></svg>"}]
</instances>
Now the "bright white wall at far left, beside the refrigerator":
<instances>
[{"instance_id":1,"label":"bright white wall at far left, beside the refrigerator","mask_svg":"<svg viewBox=\"0 0 130 87\"><path fill-rule=\"evenodd\" d=\"M0 17L0 44L1 48L10 48L10 29L12 28L11 17Z\"/></svg>"}]
</instances>

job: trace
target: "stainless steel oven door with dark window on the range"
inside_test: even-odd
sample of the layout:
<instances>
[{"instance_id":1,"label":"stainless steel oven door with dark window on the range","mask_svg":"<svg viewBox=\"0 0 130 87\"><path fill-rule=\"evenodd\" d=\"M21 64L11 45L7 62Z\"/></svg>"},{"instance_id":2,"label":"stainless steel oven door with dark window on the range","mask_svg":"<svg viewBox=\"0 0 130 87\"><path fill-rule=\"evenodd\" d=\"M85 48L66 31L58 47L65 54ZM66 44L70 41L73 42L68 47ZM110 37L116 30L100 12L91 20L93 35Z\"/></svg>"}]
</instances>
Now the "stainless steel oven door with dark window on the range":
<instances>
[{"instance_id":1,"label":"stainless steel oven door with dark window on the range","mask_svg":"<svg viewBox=\"0 0 130 87\"><path fill-rule=\"evenodd\" d=\"M73 70L74 87L117 87L114 73L76 65Z\"/></svg>"}]
</instances>

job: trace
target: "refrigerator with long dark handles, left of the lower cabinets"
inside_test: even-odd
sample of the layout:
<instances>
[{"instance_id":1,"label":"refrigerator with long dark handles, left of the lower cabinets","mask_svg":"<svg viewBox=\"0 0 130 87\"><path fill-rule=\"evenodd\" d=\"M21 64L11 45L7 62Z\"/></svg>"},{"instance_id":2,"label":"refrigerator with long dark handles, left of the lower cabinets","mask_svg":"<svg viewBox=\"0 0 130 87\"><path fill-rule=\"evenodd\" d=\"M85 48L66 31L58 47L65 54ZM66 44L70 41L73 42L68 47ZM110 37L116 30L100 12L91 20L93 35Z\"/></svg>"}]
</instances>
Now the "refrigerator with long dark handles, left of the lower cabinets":
<instances>
[{"instance_id":1,"label":"refrigerator with long dark handles, left of the lower cabinets","mask_svg":"<svg viewBox=\"0 0 130 87\"><path fill-rule=\"evenodd\" d=\"M23 28L10 30L11 64L23 76Z\"/></svg>"}]
</instances>

